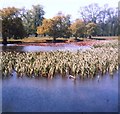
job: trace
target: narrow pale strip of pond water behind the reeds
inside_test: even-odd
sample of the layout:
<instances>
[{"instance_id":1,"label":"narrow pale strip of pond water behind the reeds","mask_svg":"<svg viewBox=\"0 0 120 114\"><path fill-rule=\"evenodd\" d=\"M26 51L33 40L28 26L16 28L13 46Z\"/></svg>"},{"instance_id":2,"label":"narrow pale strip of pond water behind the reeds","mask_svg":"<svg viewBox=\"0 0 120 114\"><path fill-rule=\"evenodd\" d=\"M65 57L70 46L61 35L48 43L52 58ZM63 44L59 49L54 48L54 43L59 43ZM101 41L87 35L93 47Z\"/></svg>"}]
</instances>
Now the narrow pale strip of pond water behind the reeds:
<instances>
[{"instance_id":1,"label":"narrow pale strip of pond water behind the reeds","mask_svg":"<svg viewBox=\"0 0 120 114\"><path fill-rule=\"evenodd\" d=\"M15 46L9 44L7 46L0 46L3 51L23 51L23 52L37 52L37 51L77 51L90 49L90 46L77 46L74 44L64 44L61 46Z\"/></svg>"}]
</instances>

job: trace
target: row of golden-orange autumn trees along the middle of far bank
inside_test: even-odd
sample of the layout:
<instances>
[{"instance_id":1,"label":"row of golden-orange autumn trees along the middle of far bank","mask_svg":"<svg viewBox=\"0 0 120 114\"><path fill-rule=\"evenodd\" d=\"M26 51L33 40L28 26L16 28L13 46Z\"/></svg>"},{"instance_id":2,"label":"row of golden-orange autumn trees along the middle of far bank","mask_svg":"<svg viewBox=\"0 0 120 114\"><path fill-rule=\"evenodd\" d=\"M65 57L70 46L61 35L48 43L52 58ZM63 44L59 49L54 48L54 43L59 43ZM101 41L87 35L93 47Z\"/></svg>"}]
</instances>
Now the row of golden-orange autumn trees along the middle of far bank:
<instances>
[{"instance_id":1,"label":"row of golden-orange autumn trees along the middle of far bank","mask_svg":"<svg viewBox=\"0 0 120 114\"><path fill-rule=\"evenodd\" d=\"M94 33L96 24L87 23L77 19L72 24L70 23L70 17L63 14L53 17L52 19L44 19L41 26L37 28L37 34L49 35L54 38L58 37L85 37Z\"/></svg>"}]
</instances>

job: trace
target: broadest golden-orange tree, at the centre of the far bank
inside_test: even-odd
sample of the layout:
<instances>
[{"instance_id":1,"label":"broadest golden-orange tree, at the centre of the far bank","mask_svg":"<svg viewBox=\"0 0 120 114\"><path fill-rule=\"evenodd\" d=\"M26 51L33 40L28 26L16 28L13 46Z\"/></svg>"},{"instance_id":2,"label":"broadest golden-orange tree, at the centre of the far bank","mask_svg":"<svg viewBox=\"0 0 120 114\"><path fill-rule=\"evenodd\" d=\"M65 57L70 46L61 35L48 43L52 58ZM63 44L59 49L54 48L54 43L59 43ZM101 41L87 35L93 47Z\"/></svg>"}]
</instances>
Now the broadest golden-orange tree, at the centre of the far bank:
<instances>
[{"instance_id":1,"label":"broadest golden-orange tree, at the centre of the far bank","mask_svg":"<svg viewBox=\"0 0 120 114\"><path fill-rule=\"evenodd\" d=\"M53 37L53 41L58 37L70 37L70 16L58 14L52 19L44 19L42 25L38 27L38 34L46 34Z\"/></svg>"}]
</instances>

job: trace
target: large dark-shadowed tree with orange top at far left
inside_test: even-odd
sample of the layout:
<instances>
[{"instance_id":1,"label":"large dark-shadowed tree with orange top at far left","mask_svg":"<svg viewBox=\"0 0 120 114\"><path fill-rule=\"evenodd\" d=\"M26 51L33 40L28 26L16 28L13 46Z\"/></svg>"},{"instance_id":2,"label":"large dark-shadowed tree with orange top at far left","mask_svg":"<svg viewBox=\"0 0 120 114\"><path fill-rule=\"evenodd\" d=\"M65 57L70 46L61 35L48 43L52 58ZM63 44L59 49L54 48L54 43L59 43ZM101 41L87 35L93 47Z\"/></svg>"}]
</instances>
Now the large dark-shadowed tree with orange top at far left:
<instances>
[{"instance_id":1,"label":"large dark-shadowed tree with orange top at far left","mask_svg":"<svg viewBox=\"0 0 120 114\"><path fill-rule=\"evenodd\" d=\"M15 7L3 8L0 10L2 20L2 37L3 43L7 38L23 38L25 36L24 26L19 17L19 9Z\"/></svg>"}]
</instances>

